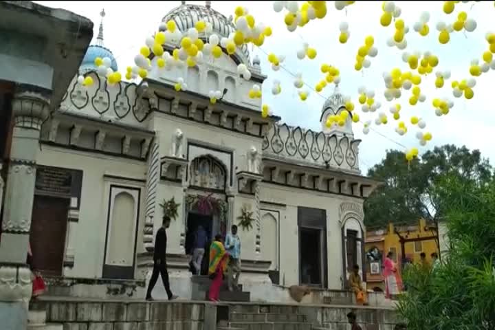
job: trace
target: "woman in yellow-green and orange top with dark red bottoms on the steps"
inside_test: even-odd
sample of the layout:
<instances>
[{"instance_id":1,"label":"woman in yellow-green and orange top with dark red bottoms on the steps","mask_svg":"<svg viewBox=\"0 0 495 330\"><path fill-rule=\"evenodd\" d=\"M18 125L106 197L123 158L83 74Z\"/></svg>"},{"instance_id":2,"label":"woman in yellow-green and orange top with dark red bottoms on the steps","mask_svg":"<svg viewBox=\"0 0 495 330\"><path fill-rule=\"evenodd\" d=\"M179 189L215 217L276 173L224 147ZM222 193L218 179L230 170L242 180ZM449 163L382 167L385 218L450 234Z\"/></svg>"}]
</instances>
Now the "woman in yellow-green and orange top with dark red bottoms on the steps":
<instances>
[{"instance_id":1,"label":"woman in yellow-green and orange top with dark red bottoms on the steps","mask_svg":"<svg viewBox=\"0 0 495 330\"><path fill-rule=\"evenodd\" d=\"M215 236L214 241L210 246L210 267L208 274L212 278L208 299L217 302L220 296L220 287L223 281L223 274L227 270L228 253L222 243L221 235Z\"/></svg>"}]
</instances>

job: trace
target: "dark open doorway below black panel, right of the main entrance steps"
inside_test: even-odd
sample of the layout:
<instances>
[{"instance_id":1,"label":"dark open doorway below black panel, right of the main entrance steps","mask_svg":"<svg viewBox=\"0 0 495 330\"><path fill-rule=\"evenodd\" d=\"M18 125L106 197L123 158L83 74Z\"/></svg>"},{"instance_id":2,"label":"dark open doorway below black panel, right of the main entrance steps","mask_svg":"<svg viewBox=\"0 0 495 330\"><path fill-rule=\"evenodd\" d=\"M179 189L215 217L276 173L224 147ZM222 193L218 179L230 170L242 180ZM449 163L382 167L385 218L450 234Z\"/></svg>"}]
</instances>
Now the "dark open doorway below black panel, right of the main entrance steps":
<instances>
[{"instance_id":1,"label":"dark open doorway below black panel, right of the main entrance steps","mask_svg":"<svg viewBox=\"0 0 495 330\"><path fill-rule=\"evenodd\" d=\"M322 230L300 228L300 283L322 285Z\"/></svg>"}]
</instances>

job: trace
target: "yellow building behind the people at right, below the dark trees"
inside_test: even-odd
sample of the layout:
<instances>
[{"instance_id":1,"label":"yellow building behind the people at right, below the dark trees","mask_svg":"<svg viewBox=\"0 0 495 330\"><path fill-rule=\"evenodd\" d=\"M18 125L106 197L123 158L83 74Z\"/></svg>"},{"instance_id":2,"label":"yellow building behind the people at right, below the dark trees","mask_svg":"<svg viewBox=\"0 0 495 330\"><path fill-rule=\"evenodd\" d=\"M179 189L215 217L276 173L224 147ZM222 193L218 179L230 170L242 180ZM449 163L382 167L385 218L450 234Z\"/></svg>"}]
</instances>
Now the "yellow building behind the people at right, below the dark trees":
<instances>
[{"instance_id":1,"label":"yellow building behind the people at right, below the dark trees","mask_svg":"<svg viewBox=\"0 0 495 330\"><path fill-rule=\"evenodd\" d=\"M403 247L404 245L404 247ZM431 263L431 254L438 253L437 229L420 219L417 225L394 225L387 228L366 228L364 244L366 253L366 282L369 289L384 290L382 261L388 252L393 252L393 261L399 270L401 262L419 263L421 252Z\"/></svg>"}]
</instances>

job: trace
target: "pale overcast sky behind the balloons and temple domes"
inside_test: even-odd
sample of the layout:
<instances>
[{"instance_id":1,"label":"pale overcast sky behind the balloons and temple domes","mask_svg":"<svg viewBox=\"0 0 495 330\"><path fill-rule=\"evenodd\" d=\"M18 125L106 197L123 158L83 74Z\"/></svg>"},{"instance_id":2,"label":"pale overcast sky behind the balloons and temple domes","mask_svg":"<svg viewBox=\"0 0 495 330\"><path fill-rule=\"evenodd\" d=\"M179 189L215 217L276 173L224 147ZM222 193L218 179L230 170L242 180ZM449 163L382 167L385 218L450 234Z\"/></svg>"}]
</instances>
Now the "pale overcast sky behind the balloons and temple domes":
<instances>
[{"instance_id":1,"label":"pale overcast sky behind the balloons and temple domes","mask_svg":"<svg viewBox=\"0 0 495 330\"><path fill-rule=\"evenodd\" d=\"M100 24L100 11L104 8L104 45L115 56L120 72L134 65L133 58L139 53L147 36L157 31L159 23L166 14L176 8L180 1L34 1L53 8L63 8L91 19L95 23L94 40L98 35ZM471 149L479 149L484 157L495 164L495 148L489 136L493 135L495 127L494 98L494 70L476 77L474 98L454 98L450 84L452 80L472 78L469 73L470 62L478 59L483 63L482 54L488 50L485 40L487 32L495 32L495 6L494 1L469 1L469 3L456 3L452 14L445 14L442 10L444 1L395 1L401 8L401 19L410 28L406 34L408 47L406 50L398 50L397 47L388 47L386 40L393 36L395 27L393 23L387 28L380 25L382 15L382 1L356 1L344 10L336 10L335 1L327 1L327 16L324 19L310 21L305 27L297 28L295 32L287 31L284 23L284 12L274 12L273 1L211 1L212 8L229 17L234 15L236 6L248 8L256 21L261 21L273 30L272 36L265 39L261 50L256 46L251 47L252 56L259 54L263 74L268 76L263 84L263 104L269 104L275 115L282 117L282 122L293 126L304 126L307 129L320 131L319 122L322 105L325 98L333 93L333 85L328 85L320 94L310 91L308 99L303 102L299 99L297 89L294 87L294 78L283 69L274 72L267 61L265 53L273 52L276 55L284 55L284 67L292 74L301 72L303 80L312 87L318 83L324 75L320 72L320 65L327 63L340 70L340 92L345 96L351 96L356 104L356 110L362 121L377 118L380 111L388 115L388 124L375 126L368 135L362 132L361 123L353 125L355 138L361 139L360 167L362 173L367 173L368 168L381 162L390 149L406 151L406 148L417 147L419 153L424 153L434 146L443 144L456 144L467 146ZM204 5L205 1L186 1L186 3ZM298 1L302 4L303 1ZM453 32L450 34L450 42L441 45L438 41L436 29L437 22L454 23L459 12L467 12L468 19L476 21L474 32ZM422 12L430 13L430 34L420 36L412 28L419 21ZM339 25L342 21L349 23L350 38L345 44L338 41L340 34ZM371 67L362 72L354 69L355 55L361 45L364 45L366 36L373 36L378 54L370 58ZM305 58L299 60L296 52L308 43L309 47L317 50L318 55L314 60ZM411 91L403 91L399 100L387 102L383 96L385 85L382 78L383 72L391 72L398 67L402 71L410 71L407 63L401 59L402 52L432 52L438 56L439 65L436 71L450 70L450 80L445 80L442 89L434 86L434 72L422 77L421 93L426 95L426 101L418 102L414 107L408 103ZM273 96L271 93L273 80L280 80L282 93ZM358 104L358 89L364 86L368 90L375 91L375 101L380 101L382 107L375 113L362 113ZM492 90L492 92L490 92ZM437 117L432 106L433 98L449 98L454 102L454 107L445 116ZM400 136L395 133L397 121L391 118L388 111L391 105L401 104L401 120L406 122L408 133ZM412 115L426 120L426 129L423 132L432 133L432 140L426 146L419 146L415 137L417 127L410 124Z\"/></svg>"}]
</instances>

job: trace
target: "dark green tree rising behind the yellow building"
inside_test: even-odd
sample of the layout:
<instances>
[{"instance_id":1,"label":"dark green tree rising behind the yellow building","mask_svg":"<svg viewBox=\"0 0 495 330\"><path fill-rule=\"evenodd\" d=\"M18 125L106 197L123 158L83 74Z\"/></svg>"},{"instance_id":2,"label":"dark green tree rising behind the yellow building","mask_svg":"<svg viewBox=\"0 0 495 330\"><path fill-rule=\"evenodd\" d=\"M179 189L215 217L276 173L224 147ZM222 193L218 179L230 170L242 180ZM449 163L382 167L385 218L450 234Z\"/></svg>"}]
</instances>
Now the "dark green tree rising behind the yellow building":
<instances>
[{"instance_id":1,"label":"dark green tree rising behind the yellow building","mask_svg":"<svg viewBox=\"0 0 495 330\"><path fill-rule=\"evenodd\" d=\"M387 151L385 159L368 175L384 182L366 199L367 226L387 223L417 223L419 218L437 222L442 217L441 201L432 187L446 175L474 182L492 177L492 168L478 150L451 144L435 147L408 163L401 151Z\"/></svg>"}]
</instances>

